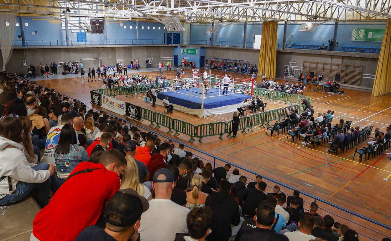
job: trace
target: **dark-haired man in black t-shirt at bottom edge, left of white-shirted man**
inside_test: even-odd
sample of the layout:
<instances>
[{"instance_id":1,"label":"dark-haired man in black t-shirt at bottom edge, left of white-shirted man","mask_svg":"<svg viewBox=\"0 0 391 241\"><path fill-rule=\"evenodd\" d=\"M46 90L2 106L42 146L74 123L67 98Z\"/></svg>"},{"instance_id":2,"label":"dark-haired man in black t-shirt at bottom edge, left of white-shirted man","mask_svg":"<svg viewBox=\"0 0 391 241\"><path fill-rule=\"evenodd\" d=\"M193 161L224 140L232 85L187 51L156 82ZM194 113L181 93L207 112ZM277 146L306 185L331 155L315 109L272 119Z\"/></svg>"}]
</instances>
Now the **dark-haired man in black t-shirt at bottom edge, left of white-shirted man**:
<instances>
[{"instance_id":1,"label":"dark-haired man in black t-shirt at bottom edge, left of white-shirted man","mask_svg":"<svg viewBox=\"0 0 391 241\"><path fill-rule=\"evenodd\" d=\"M267 201L262 201L255 212L255 226L242 227L235 237L235 241L289 241L288 237L283 234L277 234L272 230L274 218L274 208Z\"/></svg>"}]
</instances>

